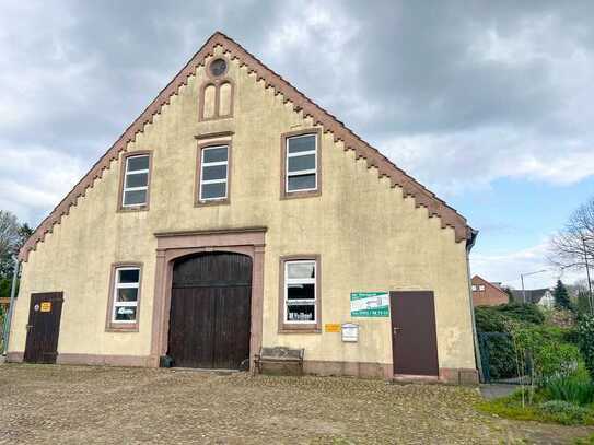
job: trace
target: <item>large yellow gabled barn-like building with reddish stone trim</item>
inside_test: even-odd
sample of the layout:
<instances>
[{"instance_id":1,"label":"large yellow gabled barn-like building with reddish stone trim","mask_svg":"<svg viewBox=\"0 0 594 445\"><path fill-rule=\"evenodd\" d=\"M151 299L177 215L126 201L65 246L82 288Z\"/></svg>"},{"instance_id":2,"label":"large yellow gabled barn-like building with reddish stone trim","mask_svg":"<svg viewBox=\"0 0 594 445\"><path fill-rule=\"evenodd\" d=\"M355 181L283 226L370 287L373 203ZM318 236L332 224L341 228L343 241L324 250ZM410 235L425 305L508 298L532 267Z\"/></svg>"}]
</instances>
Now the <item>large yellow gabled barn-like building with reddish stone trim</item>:
<instances>
[{"instance_id":1,"label":"large yellow gabled barn-like building with reddish stone trim","mask_svg":"<svg viewBox=\"0 0 594 445\"><path fill-rule=\"evenodd\" d=\"M475 236L216 33L22 248L9 360L476 382Z\"/></svg>"}]
</instances>

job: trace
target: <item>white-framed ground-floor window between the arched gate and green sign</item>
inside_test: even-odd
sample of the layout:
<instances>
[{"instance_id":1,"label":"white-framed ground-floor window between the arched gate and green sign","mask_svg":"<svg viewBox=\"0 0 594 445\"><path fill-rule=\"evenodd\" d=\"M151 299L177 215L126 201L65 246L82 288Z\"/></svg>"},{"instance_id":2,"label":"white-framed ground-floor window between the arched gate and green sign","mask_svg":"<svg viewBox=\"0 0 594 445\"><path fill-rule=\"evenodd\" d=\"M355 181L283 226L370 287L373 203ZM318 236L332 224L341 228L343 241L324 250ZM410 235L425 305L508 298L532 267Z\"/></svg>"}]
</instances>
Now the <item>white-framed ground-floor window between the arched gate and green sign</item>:
<instances>
[{"instance_id":1,"label":"white-framed ground-floor window between the arched gate and green sign","mask_svg":"<svg viewBox=\"0 0 594 445\"><path fill-rule=\"evenodd\" d=\"M316 298L316 261L286 261L284 323L317 323Z\"/></svg>"}]
</instances>

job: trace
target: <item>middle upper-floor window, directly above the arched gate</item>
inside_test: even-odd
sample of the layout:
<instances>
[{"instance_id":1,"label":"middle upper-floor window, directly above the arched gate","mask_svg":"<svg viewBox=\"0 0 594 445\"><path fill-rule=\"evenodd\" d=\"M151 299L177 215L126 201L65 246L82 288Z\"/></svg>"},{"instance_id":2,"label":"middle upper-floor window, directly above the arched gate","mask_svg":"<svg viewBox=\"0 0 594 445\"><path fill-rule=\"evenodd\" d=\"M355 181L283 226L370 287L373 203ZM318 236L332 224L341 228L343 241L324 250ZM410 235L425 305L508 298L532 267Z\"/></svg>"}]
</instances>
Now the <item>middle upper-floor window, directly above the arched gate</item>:
<instances>
[{"instance_id":1,"label":"middle upper-floor window, directly above the arched gate","mask_svg":"<svg viewBox=\"0 0 594 445\"><path fill-rule=\"evenodd\" d=\"M200 202L229 196L229 145L206 147L200 153Z\"/></svg>"}]
</instances>

